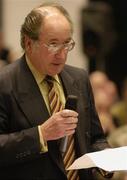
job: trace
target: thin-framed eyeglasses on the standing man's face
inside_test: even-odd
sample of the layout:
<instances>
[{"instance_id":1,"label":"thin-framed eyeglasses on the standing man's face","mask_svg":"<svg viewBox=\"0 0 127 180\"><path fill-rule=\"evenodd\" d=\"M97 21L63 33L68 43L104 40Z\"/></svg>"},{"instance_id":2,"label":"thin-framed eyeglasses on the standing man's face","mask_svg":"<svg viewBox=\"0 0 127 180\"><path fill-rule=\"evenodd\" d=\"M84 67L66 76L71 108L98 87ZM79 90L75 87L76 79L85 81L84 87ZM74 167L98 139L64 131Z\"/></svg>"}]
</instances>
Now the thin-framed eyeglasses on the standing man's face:
<instances>
[{"instance_id":1,"label":"thin-framed eyeglasses on the standing man's face","mask_svg":"<svg viewBox=\"0 0 127 180\"><path fill-rule=\"evenodd\" d=\"M51 53L57 53L59 50L64 49L66 51L71 51L74 46L75 42L73 39L71 39L68 43L63 44L43 44L49 52Z\"/></svg>"}]
</instances>

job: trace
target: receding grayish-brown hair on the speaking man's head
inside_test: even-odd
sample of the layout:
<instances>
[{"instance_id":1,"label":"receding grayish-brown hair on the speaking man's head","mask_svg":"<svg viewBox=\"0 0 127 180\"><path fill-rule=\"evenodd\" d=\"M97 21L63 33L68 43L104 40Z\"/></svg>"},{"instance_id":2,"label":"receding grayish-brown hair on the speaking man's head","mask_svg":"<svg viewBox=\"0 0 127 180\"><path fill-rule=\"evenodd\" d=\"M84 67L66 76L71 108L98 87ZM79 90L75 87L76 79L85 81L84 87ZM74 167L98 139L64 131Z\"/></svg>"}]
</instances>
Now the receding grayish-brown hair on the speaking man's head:
<instances>
[{"instance_id":1,"label":"receding grayish-brown hair on the speaking man's head","mask_svg":"<svg viewBox=\"0 0 127 180\"><path fill-rule=\"evenodd\" d=\"M23 49L25 49L25 35L27 35L29 38L35 41L39 39L44 18L48 15L48 13L46 13L45 10L44 12L40 12L39 8L43 8L43 7L56 8L68 20L71 26L71 31L73 33L73 23L67 10L58 3L53 3L53 2L43 3L39 7L34 8L26 16L25 21L21 26L20 44Z\"/></svg>"}]
</instances>

